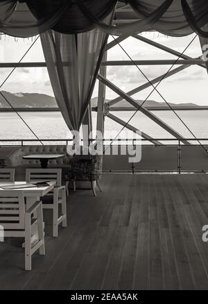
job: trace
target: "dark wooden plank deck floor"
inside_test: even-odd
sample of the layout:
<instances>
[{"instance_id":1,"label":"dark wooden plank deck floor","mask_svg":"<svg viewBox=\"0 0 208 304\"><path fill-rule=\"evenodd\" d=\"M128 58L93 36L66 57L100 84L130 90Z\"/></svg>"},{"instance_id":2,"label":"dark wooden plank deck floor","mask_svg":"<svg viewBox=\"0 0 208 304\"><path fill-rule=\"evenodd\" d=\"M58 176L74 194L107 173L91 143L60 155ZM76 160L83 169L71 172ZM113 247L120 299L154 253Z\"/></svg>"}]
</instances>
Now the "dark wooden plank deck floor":
<instances>
[{"instance_id":1,"label":"dark wooden plank deck floor","mask_svg":"<svg viewBox=\"0 0 208 304\"><path fill-rule=\"evenodd\" d=\"M208 289L207 175L105 174L101 184L96 198L71 194L68 226L46 236L33 271L22 270L21 239L0 243L0 289Z\"/></svg>"}]
</instances>

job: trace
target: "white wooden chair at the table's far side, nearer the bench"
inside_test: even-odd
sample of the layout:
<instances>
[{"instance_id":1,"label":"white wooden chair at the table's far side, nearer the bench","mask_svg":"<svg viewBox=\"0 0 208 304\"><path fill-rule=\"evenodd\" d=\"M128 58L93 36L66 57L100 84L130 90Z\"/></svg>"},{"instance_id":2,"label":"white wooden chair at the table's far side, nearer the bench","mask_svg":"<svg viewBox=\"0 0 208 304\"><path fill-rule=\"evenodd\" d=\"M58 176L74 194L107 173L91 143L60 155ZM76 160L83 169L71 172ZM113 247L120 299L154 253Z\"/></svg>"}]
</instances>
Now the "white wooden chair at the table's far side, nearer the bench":
<instances>
[{"instance_id":1,"label":"white wooden chair at the table's far side, nearer the bench","mask_svg":"<svg viewBox=\"0 0 208 304\"><path fill-rule=\"evenodd\" d=\"M53 237L58 237L58 226L67 227L66 187L62 186L62 169L26 169L26 182L34 183L40 180L55 180L56 185L52 192L42 198L43 209L53 210ZM59 217L58 205L61 205L62 214Z\"/></svg>"}]
</instances>

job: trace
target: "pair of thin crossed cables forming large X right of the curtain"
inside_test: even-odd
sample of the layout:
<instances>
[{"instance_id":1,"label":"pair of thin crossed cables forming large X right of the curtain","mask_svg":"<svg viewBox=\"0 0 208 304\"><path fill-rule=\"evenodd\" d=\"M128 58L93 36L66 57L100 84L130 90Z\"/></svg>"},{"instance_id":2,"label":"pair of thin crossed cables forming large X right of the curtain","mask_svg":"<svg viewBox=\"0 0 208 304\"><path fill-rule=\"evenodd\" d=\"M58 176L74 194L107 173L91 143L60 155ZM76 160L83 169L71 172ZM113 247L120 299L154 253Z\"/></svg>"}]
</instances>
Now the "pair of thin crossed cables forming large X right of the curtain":
<instances>
[{"instance_id":1,"label":"pair of thin crossed cables forming large X right of the curtain","mask_svg":"<svg viewBox=\"0 0 208 304\"><path fill-rule=\"evenodd\" d=\"M126 124L123 126L123 128L121 128L120 132L116 135L116 137L114 137L114 139L112 140L112 142L110 143L110 146L112 145L112 143L114 142L114 140L116 140L116 138L119 136L119 134L121 134L121 132L123 131L123 129L125 128L125 126L127 126L129 124L129 122L131 121L131 119L133 117L135 117L135 115L137 114L137 112L139 111L139 109L144 105L144 103L148 100L148 98L150 97L151 94L153 94L154 91L156 91L159 96L162 97L162 99L165 101L165 103L168 105L169 108L171 108L171 110L175 113L175 115L177 116L178 119L180 119L180 121L182 122L182 124L187 128L187 130L189 130L189 132L191 133L191 135L193 135L193 137L195 138L195 140L200 144L200 146L202 147L202 149L204 149L207 152L207 149L205 149L205 146L202 145L202 143L197 139L196 135L193 134L193 132L191 131L191 129L187 126L187 124L184 123L184 121L181 119L181 117L177 114L177 112L175 112L175 110L172 108L172 106L166 101L166 99L164 99L164 96L162 96L162 94L157 90L157 87L159 86L160 83L162 83L162 81L164 80L164 78L166 78L166 75L169 73L169 71L171 71L171 69L174 67L174 65L177 63L177 61L181 58L181 56L184 54L185 51L187 51L187 49L189 48L189 46L191 45L191 43L196 39L198 35L195 35L193 37L193 39L191 40L191 42L189 42L189 44L187 45L187 47L184 49L184 51L182 53L180 53L180 56L178 56L178 58L175 60L175 62L173 62L173 65L171 65L171 67L168 69L168 71L166 72L166 74L164 74L164 76L161 78L161 80L159 81L159 83L157 83L157 85L153 85L153 83L151 83L151 81L148 79L148 77L146 76L146 74L144 74L144 72L138 67L138 65L135 63L134 60L132 60L132 58L130 57L130 55L128 54L127 51L125 51L125 49L123 49L123 47L121 46L121 44L116 40L116 38L112 35L113 39L116 41L116 43L119 45L119 47L121 47L121 49L124 51L124 53L128 56L128 58L130 58L130 60L134 63L134 65L137 67L137 69L139 69L139 71L141 72L141 74L146 78L146 80L148 81L148 83L150 83L150 85L153 86L153 90L150 92L150 94L148 94L148 96L146 97L146 99L144 100L143 103L141 103L141 105L138 106L137 110L135 111L135 113L132 115L132 117L130 117L130 119L126 122ZM185 60L184 60L185 61ZM109 148L109 146L107 146L107 149ZM106 149L106 150L107 150ZM106 151L105 150L105 151Z\"/></svg>"}]
</instances>

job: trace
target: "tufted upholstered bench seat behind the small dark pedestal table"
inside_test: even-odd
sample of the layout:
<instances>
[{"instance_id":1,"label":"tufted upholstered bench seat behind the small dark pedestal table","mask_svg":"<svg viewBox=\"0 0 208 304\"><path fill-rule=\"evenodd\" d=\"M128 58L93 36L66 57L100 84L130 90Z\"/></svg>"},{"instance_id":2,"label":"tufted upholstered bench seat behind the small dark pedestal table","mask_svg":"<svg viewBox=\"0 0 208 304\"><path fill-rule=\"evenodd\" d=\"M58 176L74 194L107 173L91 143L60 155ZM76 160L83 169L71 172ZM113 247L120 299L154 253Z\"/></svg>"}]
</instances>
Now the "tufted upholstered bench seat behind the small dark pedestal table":
<instances>
[{"instance_id":1,"label":"tufted upholstered bench seat behind the small dark pedestal table","mask_svg":"<svg viewBox=\"0 0 208 304\"><path fill-rule=\"evenodd\" d=\"M17 180L25 178L26 168L40 167L39 160L24 160L22 157L29 154L64 154L62 158L57 160L49 160L49 168L62 168L62 176L71 169L71 156L67 154L67 146L65 145L34 145L22 146L15 149L6 158L7 167L15 167L15 176Z\"/></svg>"}]
</instances>

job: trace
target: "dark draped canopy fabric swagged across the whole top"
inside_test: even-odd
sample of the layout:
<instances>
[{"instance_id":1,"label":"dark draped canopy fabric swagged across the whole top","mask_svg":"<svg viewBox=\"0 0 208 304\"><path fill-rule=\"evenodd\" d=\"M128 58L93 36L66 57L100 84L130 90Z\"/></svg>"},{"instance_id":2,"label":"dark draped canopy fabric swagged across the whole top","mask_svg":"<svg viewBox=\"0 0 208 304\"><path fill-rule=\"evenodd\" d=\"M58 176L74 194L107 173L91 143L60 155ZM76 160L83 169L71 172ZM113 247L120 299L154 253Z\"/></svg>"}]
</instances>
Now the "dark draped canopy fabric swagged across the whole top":
<instances>
[{"instance_id":1,"label":"dark draped canopy fabric swagged across the whole top","mask_svg":"<svg viewBox=\"0 0 208 304\"><path fill-rule=\"evenodd\" d=\"M25 2L28 12L15 10ZM113 12L116 0L0 0L0 31L17 37L30 37L53 29L59 33L84 33L100 28L114 35L132 35L154 29L171 36L194 31L202 37L208 20L207 0L127 0L137 12L138 22L109 26L103 19ZM22 5L22 4L21 4Z\"/></svg>"}]
</instances>

